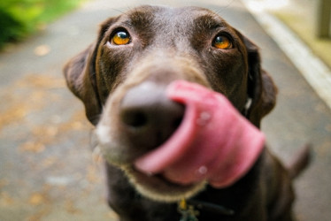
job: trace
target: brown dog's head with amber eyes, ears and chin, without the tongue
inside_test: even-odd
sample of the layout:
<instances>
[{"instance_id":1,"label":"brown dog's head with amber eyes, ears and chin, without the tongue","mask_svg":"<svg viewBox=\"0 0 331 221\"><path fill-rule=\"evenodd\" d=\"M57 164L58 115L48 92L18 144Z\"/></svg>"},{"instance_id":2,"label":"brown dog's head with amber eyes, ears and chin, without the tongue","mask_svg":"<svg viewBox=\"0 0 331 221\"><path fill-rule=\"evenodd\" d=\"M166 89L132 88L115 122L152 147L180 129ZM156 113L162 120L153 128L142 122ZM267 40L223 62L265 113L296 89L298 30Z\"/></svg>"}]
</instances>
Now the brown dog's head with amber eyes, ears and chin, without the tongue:
<instances>
[{"instance_id":1,"label":"brown dog's head with amber eyes, ears and chin, without the tongue","mask_svg":"<svg viewBox=\"0 0 331 221\"><path fill-rule=\"evenodd\" d=\"M257 47L219 15L195 7L142 6L106 20L97 42L65 66L65 77L97 125L105 160L124 169L142 194L167 201L194 194L204 184L173 184L135 171L132 164L181 124L185 107L165 97L173 80L226 95L256 126L275 102ZM141 108L148 109L147 117Z\"/></svg>"}]
</instances>

